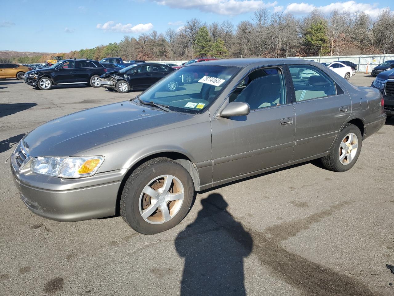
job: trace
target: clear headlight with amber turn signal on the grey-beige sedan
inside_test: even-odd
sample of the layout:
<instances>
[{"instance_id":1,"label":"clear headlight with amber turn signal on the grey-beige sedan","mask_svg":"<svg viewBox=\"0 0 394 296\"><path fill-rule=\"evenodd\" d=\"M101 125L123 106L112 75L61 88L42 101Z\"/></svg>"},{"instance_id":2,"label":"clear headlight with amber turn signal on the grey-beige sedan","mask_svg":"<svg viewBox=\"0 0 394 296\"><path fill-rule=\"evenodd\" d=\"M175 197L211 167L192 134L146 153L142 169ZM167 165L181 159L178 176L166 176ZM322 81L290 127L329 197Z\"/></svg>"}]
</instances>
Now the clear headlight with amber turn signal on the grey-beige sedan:
<instances>
[{"instance_id":1,"label":"clear headlight with amber turn signal on the grey-beige sedan","mask_svg":"<svg viewBox=\"0 0 394 296\"><path fill-rule=\"evenodd\" d=\"M104 156L36 157L30 169L38 174L60 178L93 176L104 161Z\"/></svg>"}]
</instances>

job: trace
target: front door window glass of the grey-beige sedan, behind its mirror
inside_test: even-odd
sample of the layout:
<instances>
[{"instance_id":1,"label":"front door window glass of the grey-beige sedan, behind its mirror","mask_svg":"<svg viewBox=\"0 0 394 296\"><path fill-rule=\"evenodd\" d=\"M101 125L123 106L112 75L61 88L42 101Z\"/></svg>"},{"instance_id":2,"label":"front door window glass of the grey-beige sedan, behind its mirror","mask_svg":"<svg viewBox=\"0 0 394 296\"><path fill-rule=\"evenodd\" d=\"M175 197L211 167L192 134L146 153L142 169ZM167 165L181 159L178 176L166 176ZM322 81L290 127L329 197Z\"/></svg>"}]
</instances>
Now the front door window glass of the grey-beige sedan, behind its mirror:
<instances>
[{"instance_id":1,"label":"front door window glass of the grey-beige sedan, behind its mirror","mask_svg":"<svg viewBox=\"0 0 394 296\"><path fill-rule=\"evenodd\" d=\"M248 103L251 110L286 104L282 69L271 67L251 72L241 81L229 100Z\"/></svg>"}]
</instances>

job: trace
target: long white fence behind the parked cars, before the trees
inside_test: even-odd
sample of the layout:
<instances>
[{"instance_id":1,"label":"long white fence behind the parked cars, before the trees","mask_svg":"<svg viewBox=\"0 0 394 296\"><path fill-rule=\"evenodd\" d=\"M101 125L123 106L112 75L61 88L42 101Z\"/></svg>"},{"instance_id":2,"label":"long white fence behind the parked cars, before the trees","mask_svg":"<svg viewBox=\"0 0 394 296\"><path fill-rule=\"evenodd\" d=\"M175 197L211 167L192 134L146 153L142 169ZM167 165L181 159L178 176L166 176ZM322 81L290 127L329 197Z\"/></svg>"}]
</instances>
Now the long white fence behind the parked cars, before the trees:
<instances>
[{"instance_id":1,"label":"long white fence behind the parked cars, before the trees","mask_svg":"<svg viewBox=\"0 0 394 296\"><path fill-rule=\"evenodd\" d=\"M368 55L358 55L358 56L304 56L301 57L303 60L314 60L318 63L325 62L335 62L335 61L349 61L357 65L357 72L365 72L367 64L368 73L372 71L374 67L383 63L387 60L394 60L393 54L368 54ZM177 64L180 66L183 62L187 61L155 61L161 64Z\"/></svg>"}]
</instances>

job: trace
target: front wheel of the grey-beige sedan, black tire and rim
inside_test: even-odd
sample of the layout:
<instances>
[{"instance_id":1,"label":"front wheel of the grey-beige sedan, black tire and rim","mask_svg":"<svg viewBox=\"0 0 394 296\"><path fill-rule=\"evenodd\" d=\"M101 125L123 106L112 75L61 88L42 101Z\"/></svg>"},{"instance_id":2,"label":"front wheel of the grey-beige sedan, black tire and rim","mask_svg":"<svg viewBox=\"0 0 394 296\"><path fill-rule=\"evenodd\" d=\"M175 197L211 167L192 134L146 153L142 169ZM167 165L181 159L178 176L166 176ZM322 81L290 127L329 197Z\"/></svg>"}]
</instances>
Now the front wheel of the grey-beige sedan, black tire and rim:
<instances>
[{"instance_id":1,"label":"front wheel of the grey-beige sedan, black tire and rim","mask_svg":"<svg viewBox=\"0 0 394 296\"><path fill-rule=\"evenodd\" d=\"M160 195L160 189L169 180L168 176L173 177L167 186L170 190ZM174 191L178 193L176 197ZM183 198L180 198L182 191ZM180 199L170 201L171 195ZM190 210L193 195L194 184L189 172L172 159L159 157L140 165L127 179L121 195L120 213L123 220L137 232L156 234L173 228L183 220ZM161 208L167 210L164 212Z\"/></svg>"}]
</instances>

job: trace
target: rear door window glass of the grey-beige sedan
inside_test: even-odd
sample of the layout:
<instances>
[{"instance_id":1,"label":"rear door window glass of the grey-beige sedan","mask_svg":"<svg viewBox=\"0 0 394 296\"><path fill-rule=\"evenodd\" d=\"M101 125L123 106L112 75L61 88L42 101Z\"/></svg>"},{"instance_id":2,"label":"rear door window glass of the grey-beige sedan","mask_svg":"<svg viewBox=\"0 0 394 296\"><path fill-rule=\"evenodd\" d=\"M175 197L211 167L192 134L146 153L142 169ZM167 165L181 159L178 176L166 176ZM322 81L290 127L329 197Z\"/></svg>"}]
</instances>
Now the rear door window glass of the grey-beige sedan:
<instances>
[{"instance_id":1,"label":"rear door window glass of the grey-beige sedan","mask_svg":"<svg viewBox=\"0 0 394 296\"><path fill-rule=\"evenodd\" d=\"M299 65L290 65L290 72L292 68L299 67ZM297 102L336 95L335 82L322 70L311 65L303 65L303 67L305 70L299 78L292 76Z\"/></svg>"}]
</instances>

